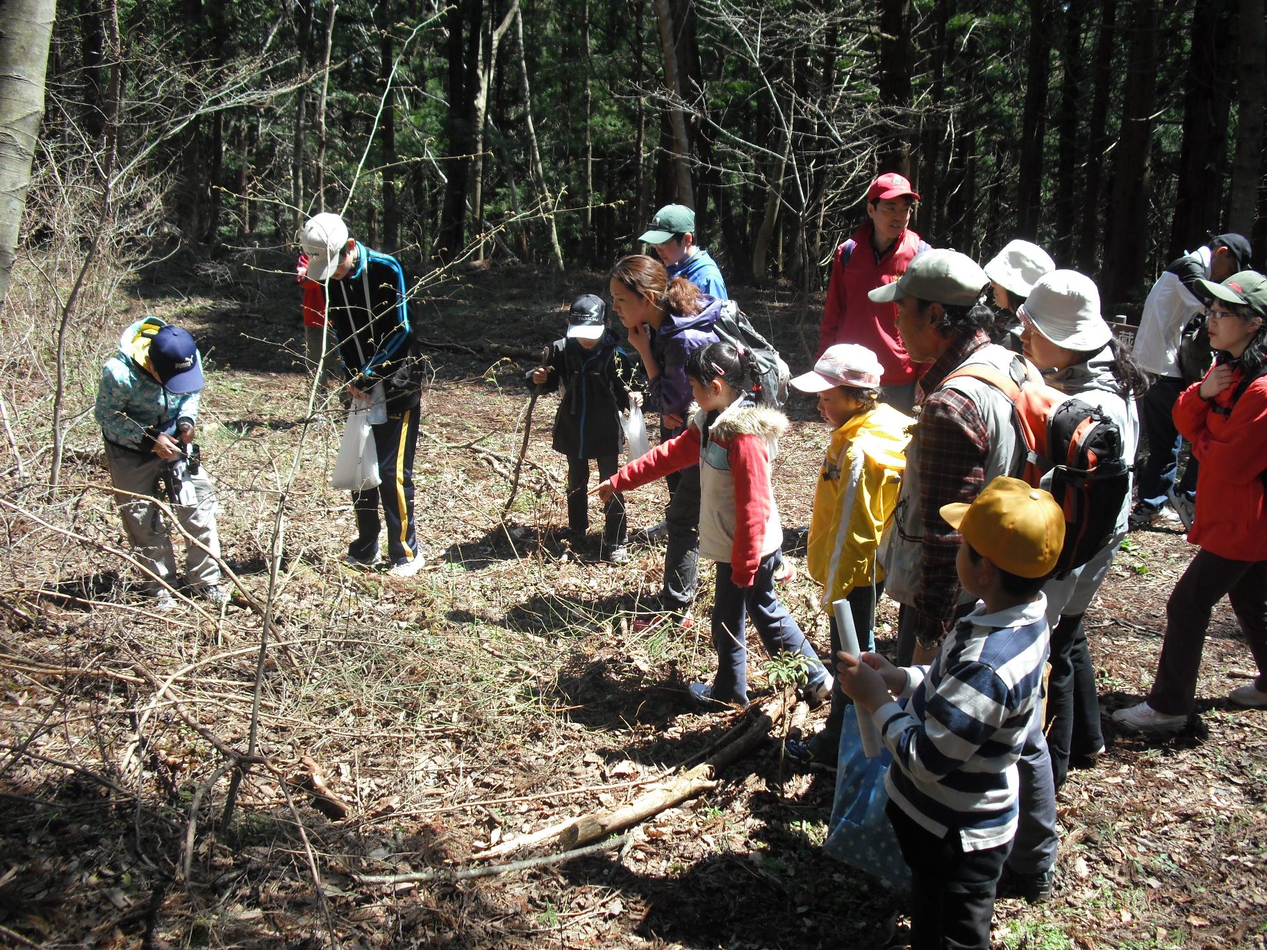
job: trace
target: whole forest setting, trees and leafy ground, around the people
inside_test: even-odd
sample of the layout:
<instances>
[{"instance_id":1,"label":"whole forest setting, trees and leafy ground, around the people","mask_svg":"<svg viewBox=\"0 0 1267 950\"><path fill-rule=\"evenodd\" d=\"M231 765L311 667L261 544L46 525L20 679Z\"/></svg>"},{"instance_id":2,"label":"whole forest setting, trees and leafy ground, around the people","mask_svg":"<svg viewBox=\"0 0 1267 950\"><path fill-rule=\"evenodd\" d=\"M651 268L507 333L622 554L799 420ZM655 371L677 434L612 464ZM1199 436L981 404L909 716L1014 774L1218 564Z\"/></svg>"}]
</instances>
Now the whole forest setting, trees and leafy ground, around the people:
<instances>
[{"instance_id":1,"label":"whole forest setting, trees and leafy ground, around the people","mask_svg":"<svg viewBox=\"0 0 1267 950\"><path fill-rule=\"evenodd\" d=\"M693 627L631 623L663 552L563 542L557 402L533 415L525 376L668 203L808 369L882 171L934 247L1036 241L1106 317L1211 233L1262 269L1263 0L4 9L0 946L906 946L905 898L824 854L834 776L783 754L822 712L755 651L748 711L687 702L711 594ZM399 258L426 353L412 578L342 562L343 413L295 282L323 210ZM232 588L162 616L92 418L148 314L203 355ZM827 429L786 410L779 595L822 655L794 526ZM631 527L663 503L632 495ZM1192 551L1133 532L1088 611L1106 717L1148 689ZM1267 727L1221 699L1252 665L1223 603L1197 713L1107 726L1057 801L1053 897L1000 901L995 950L1267 946Z\"/></svg>"}]
</instances>

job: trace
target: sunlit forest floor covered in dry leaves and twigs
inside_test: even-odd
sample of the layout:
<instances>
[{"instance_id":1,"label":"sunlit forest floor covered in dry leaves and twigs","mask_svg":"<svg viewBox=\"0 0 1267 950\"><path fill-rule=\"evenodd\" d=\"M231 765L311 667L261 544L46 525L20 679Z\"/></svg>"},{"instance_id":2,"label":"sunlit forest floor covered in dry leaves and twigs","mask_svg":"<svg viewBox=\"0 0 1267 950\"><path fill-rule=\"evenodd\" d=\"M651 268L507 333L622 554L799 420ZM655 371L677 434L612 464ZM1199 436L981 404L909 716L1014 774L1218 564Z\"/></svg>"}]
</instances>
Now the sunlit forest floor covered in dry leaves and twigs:
<instances>
[{"instance_id":1,"label":"sunlit forest floor covered in dry leaves and twigs","mask_svg":"<svg viewBox=\"0 0 1267 950\"><path fill-rule=\"evenodd\" d=\"M347 570L348 497L328 486L341 426L337 413L305 424L299 294L277 274L243 272L218 286L169 276L131 288L131 310L103 319L73 361L68 409L90 407L128 319L157 313L194 331L210 370L199 438L224 556L258 600L298 457L260 676L267 761L252 765L219 828L229 770L217 746L247 749L261 616L241 592L219 616L148 612L111 551L122 537L91 417L72 426L62 488L49 497L11 457L24 456L28 475L47 466L47 394L6 394L0 946L903 945L901 898L822 854L832 778L791 768L774 738L618 849L451 877L557 851L547 840L485 855L634 801L744 718L701 714L687 699L685 685L712 673L712 569L691 630L630 631L628 612L658 590L661 552L634 547L630 564L612 566L561 546L554 396L536 408L525 484L503 522L532 361L494 347L547 343L570 299L601 290L603 276L500 269L414 307L421 336L441 345L428 350L416 465L427 569L412 579ZM792 296L742 301L803 367ZM5 352L23 346L10 336ZM789 415L775 491L784 523L805 526L827 429L807 402ZM650 486L628 500L639 527L658 521L665 495ZM788 550L802 570L784 600L825 654L803 535L789 532ZM1054 897L1001 901L997 947L1264 946L1267 714L1224 699L1253 669L1225 603L1190 726L1158 742L1107 725L1152 680L1166 598L1191 555L1177 532L1133 533L1087 614L1109 749L1059 794ZM881 621L879 646L891 649L891 602ZM763 660L753 657L754 693L773 707ZM324 799L312 794L322 788ZM427 869L445 874L360 879Z\"/></svg>"}]
</instances>

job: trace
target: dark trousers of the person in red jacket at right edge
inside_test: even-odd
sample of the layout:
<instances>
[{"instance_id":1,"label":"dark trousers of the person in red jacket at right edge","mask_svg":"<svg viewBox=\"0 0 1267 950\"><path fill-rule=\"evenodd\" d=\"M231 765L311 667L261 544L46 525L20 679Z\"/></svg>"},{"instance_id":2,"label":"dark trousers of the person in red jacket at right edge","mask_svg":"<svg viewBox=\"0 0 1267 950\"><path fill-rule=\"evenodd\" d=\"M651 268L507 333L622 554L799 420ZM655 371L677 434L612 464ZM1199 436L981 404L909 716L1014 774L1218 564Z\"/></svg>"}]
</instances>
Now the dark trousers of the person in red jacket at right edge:
<instances>
[{"instance_id":1,"label":"dark trousers of the person in red jacket at right edge","mask_svg":"<svg viewBox=\"0 0 1267 950\"><path fill-rule=\"evenodd\" d=\"M1166 602L1166 638L1148 695L1157 712L1192 712L1210 612L1224 595L1258 664L1254 685L1267 690L1267 561L1233 561L1201 548Z\"/></svg>"}]
</instances>

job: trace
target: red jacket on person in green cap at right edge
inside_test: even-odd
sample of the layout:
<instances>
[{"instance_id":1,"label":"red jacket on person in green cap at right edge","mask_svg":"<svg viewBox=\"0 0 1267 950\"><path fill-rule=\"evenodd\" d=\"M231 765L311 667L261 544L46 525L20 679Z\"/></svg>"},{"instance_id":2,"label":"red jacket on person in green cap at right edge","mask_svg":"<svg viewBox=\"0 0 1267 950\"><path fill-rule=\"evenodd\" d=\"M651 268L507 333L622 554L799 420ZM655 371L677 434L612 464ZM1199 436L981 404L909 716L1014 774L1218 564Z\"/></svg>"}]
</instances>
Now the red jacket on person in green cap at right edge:
<instances>
[{"instance_id":1,"label":"red jacket on person in green cap at right edge","mask_svg":"<svg viewBox=\"0 0 1267 950\"><path fill-rule=\"evenodd\" d=\"M1233 405L1240 379L1234 372L1213 403L1199 394L1200 383L1175 403L1175 427L1201 462L1188 541L1233 561L1267 561L1267 376L1251 383Z\"/></svg>"}]
</instances>

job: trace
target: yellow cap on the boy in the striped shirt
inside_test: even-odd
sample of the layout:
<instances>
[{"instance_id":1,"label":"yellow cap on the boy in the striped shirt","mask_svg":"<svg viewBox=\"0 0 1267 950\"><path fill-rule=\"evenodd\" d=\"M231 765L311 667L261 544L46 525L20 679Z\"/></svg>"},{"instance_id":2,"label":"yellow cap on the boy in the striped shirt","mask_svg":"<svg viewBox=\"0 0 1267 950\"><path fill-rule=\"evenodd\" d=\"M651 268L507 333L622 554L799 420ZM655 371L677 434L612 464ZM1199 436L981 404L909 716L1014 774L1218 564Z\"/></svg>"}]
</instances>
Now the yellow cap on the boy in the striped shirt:
<instances>
[{"instance_id":1,"label":"yellow cap on the boy in the striped shirt","mask_svg":"<svg viewBox=\"0 0 1267 950\"><path fill-rule=\"evenodd\" d=\"M977 554L1021 578L1050 574L1064 546L1064 512L1052 493L1006 475L972 504L941 505L941 517Z\"/></svg>"}]
</instances>

